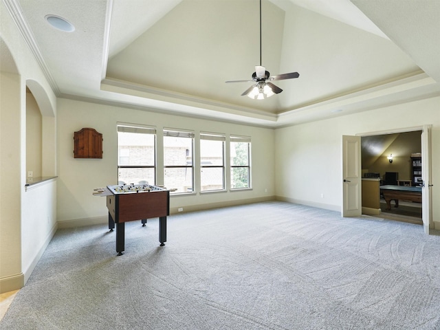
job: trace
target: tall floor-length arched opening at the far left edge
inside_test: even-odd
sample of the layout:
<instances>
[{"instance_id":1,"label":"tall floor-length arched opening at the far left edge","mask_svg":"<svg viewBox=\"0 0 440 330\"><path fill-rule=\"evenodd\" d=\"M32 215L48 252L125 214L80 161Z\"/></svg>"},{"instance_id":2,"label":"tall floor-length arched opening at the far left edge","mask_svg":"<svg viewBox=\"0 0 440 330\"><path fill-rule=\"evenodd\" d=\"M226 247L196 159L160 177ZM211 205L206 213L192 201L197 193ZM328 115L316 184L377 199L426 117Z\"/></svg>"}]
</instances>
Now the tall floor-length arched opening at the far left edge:
<instances>
[{"instance_id":1,"label":"tall floor-length arched opening at the far left edge","mask_svg":"<svg viewBox=\"0 0 440 330\"><path fill-rule=\"evenodd\" d=\"M0 293L24 284L21 272L21 76L0 38Z\"/></svg>"}]
</instances>

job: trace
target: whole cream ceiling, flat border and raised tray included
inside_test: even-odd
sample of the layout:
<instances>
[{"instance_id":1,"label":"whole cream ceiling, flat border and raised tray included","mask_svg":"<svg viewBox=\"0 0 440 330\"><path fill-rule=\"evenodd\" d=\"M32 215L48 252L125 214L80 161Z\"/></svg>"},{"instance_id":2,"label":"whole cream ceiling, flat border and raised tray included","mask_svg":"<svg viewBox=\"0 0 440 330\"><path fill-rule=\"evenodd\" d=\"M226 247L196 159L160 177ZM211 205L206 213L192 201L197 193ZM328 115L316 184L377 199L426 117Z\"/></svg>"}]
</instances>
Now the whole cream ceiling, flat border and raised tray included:
<instances>
[{"instance_id":1,"label":"whole cream ceiling, flat border and raised tray included","mask_svg":"<svg viewBox=\"0 0 440 330\"><path fill-rule=\"evenodd\" d=\"M3 0L57 96L276 127L440 95L440 1ZM19 14L17 14L19 13ZM55 30L45 15L75 25Z\"/></svg>"}]
</instances>

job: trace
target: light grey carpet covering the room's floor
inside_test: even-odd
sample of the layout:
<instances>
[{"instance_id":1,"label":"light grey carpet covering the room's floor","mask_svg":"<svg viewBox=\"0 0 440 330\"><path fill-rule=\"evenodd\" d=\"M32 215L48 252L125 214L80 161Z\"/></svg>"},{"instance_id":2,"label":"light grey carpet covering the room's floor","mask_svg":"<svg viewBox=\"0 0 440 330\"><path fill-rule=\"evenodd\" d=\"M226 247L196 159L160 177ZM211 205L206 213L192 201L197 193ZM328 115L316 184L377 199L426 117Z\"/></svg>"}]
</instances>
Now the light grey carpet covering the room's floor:
<instances>
[{"instance_id":1,"label":"light grey carpet covering the room's floor","mask_svg":"<svg viewBox=\"0 0 440 330\"><path fill-rule=\"evenodd\" d=\"M58 230L0 329L440 329L440 237L266 202Z\"/></svg>"}]
</instances>

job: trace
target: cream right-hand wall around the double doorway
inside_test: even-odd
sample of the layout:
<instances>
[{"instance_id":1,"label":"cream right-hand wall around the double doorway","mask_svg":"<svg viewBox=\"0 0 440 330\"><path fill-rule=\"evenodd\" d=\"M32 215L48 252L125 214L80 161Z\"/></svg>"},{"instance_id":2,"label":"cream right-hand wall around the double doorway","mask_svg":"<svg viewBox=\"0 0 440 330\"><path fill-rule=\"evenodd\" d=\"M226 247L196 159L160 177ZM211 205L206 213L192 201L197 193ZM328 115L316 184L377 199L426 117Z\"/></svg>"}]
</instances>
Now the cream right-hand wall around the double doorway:
<instances>
[{"instance_id":1,"label":"cream right-hand wall around the double doorway","mask_svg":"<svg viewBox=\"0 0 440 330\"><path fill-rule=\"evenodd\" d=\"M437 222L435 228L440 228L439 97L277 129L276 196L339 211L342 204L342 135L424 124L432 124L432 217Z\"/></svg>"}]
</instances>

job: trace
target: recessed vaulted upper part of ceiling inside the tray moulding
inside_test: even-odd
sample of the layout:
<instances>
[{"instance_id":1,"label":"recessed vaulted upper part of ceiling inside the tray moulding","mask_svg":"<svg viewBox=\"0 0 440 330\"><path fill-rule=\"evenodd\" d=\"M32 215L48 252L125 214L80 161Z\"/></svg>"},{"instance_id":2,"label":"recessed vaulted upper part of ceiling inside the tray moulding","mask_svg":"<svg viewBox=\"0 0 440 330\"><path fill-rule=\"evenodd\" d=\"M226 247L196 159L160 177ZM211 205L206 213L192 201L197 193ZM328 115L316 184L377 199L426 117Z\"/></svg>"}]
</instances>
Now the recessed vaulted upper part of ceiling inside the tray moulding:
<instances>
[{"instance_id":1,"label":"recessed vaulted upper part of ceiling inside the tray moulding","mask_svg":"<svg viewBox=\"0 0 440 330\"><path fill-rule=\"evenodd\" d=\"M181 1L111 58L107 78L281 113L419 69L387 39L263 4L262 64L272 74L300 73L276 82L283 94L259 102L240 96L252 84L225 84L250 79L259 65L258 1Z\"/></svg>"}]
</instances>

